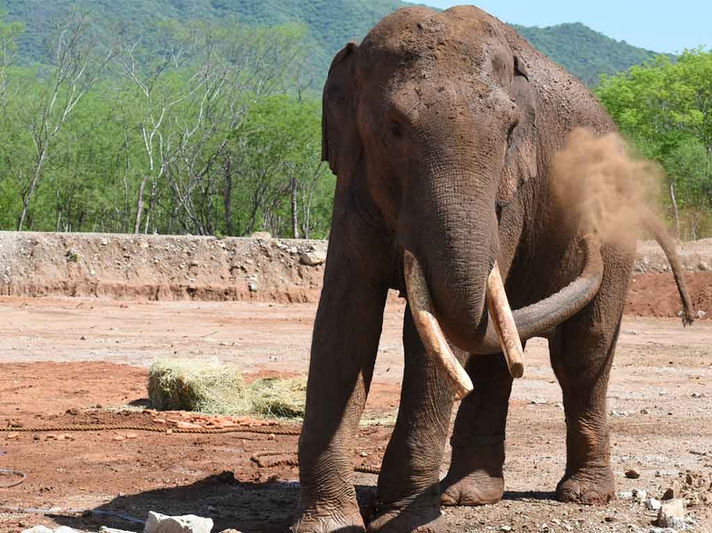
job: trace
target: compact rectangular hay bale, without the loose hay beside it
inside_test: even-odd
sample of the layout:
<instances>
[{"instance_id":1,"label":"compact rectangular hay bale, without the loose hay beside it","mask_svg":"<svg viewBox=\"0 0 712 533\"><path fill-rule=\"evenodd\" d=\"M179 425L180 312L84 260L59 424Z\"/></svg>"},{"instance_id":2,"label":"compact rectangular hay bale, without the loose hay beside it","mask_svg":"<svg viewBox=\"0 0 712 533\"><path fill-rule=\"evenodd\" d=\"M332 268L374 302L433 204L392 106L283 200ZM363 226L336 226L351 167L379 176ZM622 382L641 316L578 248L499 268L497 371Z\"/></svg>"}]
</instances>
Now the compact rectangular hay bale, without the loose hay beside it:
<instances>
[{"instance_id":1,"label":"compact rectangular hay bale, without the loose hay beside it","mask_svg":"<svg viewBox=\"0 0 712 533\"><path fill-rule=\"evenodd\" d=\"M148 371L148 397L161 411L233 415L249 410L241 371L216 360L158 359Z\"/></svg>"}]
</instances>

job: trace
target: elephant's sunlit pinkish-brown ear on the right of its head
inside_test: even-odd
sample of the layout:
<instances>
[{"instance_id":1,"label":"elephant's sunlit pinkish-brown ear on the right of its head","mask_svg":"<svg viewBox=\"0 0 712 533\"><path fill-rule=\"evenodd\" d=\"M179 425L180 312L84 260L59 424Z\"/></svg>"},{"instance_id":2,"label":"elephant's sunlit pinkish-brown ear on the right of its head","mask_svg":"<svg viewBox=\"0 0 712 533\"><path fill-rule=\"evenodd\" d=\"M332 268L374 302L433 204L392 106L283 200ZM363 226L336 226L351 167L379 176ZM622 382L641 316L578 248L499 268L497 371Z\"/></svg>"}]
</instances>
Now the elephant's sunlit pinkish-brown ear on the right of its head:
<instances>
[{"instance_id":1,"label":"elephant's sunlit pinkish-brown ear on the right of its head","mask_svg":"<svg viewBox=\"0 0 712 533\"><path fill-rule=\"evenodd\" d=\"M511 96L519 108L520 120L509 132L505 166L499 185L498 204L510 202L520 185L537 174L536 99L522 61L514 58Z\"/></svg>"}]
</instances>

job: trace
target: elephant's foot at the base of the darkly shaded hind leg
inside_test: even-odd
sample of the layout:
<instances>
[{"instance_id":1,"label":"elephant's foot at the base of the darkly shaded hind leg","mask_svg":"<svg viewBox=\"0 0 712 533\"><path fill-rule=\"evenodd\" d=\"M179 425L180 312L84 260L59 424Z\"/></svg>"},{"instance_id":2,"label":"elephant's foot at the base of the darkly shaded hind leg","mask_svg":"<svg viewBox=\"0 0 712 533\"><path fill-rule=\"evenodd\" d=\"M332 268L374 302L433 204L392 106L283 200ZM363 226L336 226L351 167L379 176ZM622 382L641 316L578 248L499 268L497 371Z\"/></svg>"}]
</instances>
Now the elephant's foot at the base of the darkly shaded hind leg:
<instances>
[{"instance_id":1,"label":"elephant's foot at the base of the darkly shaded hind leg","mask_svg":"<svg viewBox=\"0 0 712 533\"><path fill-rule=\"evenodd\" d=\"M504 443L453 448L448 474L440 482L442 505L476 507L496 503L504 494Z\"/></svg>"}]
</instances>

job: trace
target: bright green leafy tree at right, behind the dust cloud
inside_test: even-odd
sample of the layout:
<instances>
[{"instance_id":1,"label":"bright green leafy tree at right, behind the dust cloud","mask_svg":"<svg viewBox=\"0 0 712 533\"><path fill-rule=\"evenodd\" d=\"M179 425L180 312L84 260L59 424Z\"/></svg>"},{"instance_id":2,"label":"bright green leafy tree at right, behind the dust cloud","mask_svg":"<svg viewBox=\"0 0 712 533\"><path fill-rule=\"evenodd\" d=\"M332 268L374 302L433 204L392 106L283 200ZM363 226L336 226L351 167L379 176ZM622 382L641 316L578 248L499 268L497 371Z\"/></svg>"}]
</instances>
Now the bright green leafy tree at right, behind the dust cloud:
<instances>
[{"instance_id":1,"label":"bright green leafy tree at right, behind the dust cloud","mask_svg":"<svg viewBox=\"0 0 712 533\"><path fill-rule=\"evenodd\" d=\"M698 238L712 209L712 51L604 76L597 95L620 130L666 169L678 234L686 211L688 236Z\"/></svg>"}]
</instances>

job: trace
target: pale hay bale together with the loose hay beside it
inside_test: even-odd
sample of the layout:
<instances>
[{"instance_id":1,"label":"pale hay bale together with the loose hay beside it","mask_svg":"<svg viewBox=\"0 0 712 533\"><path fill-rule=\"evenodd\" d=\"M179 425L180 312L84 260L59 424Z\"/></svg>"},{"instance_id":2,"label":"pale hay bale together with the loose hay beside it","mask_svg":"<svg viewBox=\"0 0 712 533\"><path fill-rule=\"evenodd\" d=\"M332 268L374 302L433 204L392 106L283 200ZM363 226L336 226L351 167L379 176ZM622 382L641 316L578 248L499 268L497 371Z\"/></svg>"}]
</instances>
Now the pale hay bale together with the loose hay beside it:
<instances>
[{"instance_id":1,"label":"pale hay bale together with the loose hay beside it","mask_svg":"<svg viewBox=\"0 0 712 533\"><path fill-rule=\"evenodd\" d=\"M306 380L258 379L246 386L234 364L158 359L148 371L148 397L159 411L302 418Z\"/></svg>"}]
</instances>

